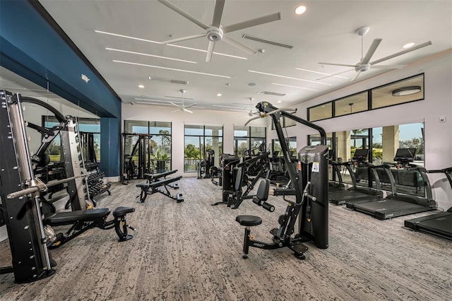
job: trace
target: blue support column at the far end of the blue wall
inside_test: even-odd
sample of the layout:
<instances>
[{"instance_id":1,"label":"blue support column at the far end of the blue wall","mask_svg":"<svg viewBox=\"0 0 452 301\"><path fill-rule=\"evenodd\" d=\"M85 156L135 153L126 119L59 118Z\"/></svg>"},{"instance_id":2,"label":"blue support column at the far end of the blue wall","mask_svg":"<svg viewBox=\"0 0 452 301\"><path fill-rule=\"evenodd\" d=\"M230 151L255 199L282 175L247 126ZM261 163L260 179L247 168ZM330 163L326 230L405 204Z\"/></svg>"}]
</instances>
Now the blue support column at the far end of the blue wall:
<instances>
[{"instance_id":1,"label":"blue support column at the far end of the blue wall","mask_svg":"<svg viewBox=\"0 0 452 301\"><path fill-rule=\"evenodd\" d=\"M117 181L119 181L120 150L121 119L100 118L100 170L105 172L105 177L116 177Z\"/></svg>"}]
</instances>

